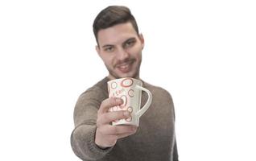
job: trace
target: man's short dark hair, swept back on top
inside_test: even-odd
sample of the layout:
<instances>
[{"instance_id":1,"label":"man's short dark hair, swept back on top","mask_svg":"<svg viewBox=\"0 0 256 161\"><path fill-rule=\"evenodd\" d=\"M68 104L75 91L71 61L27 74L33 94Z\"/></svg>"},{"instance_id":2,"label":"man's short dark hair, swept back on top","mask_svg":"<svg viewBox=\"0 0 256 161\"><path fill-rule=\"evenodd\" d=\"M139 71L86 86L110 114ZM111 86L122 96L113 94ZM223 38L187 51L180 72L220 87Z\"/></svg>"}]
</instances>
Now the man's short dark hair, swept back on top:
<instances>
[{"instance_id":1,"label":"man's short dark hair, swept back on top","mask_svg":"<svg viewBox=\"0 0 256 161\"><path fill-rule=\"evenodd\" d=\"M113 27L120 23L130 22L138 34L138 26L130 9L126 6L108 6L97 14L93 22L93 33L97 41L97 33L101 29ZM98 41L97 41L98 43Z\"/></svg>"}]
</instances>

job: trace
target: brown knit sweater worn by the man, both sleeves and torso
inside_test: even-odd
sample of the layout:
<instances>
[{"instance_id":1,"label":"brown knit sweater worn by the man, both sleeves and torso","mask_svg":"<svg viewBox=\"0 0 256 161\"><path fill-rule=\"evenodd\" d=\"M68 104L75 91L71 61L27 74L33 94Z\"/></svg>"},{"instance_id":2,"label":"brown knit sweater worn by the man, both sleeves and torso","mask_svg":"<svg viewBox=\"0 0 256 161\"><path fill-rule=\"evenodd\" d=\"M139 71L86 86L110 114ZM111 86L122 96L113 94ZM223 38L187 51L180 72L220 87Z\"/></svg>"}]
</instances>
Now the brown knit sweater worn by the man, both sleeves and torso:
<instances>
[{"instance_id":1,"label":"brown knit sweater worn by the man, both sleeves and torso","mask_svg":"<svg viewBox=\"0 0 256 161\"><path fill-rule=\"evenodd\" d=\"M175 114L171 95L164 89L144 81L143 87L153 96L150 108L142 115L135 134L118 139L114 147L101 149L95 144L97 110L108 98L107 81L82 93L74 109L75 129L71 135L74 153L86 161L178 161L175 142ZM142 105L147 93L142 93Z\"/></svg>"}]
</instances>

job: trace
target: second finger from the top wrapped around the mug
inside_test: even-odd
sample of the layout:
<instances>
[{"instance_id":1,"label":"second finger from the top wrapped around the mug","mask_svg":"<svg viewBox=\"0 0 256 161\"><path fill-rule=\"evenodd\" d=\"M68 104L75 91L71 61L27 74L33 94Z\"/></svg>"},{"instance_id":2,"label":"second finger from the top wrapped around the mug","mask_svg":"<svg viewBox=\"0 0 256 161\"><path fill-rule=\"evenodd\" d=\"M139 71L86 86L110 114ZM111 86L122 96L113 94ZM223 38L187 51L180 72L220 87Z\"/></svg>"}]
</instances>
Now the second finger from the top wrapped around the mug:
<instances>
[{"instance_id":1,"label":"second finger from the top wrapped around the mug","mask_svg":"<svg viewBox=\"0 0 256 161\"><path fill-rule=\"evenodd\" d=\"M130 112L127 110L113 111L105 114L101 114L97 119L97 125L109 124L109 122L114 122L123 118L129 118Z\"/></svg>"}]
</instances>

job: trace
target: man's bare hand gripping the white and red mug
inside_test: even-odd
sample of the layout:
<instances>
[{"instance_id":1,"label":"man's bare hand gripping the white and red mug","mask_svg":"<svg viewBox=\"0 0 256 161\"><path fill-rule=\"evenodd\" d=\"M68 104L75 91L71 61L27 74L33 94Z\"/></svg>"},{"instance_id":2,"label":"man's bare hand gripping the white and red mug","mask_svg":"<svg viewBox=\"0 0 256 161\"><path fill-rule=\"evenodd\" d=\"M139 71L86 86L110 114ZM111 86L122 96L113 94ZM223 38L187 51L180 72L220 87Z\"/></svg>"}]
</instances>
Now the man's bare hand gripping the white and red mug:
<instances>
[{"instance_id":1,"label":"man's bare hand gripping the white and red mug","mask_svg":"<svg viewBox=\"0 0 256 161\"><path fill-rule=\"evenodd\" d=\"M116 105L122 105L122 99L110 97L102 101L97 112L95 143L101 148L113 147L118 138L125 138L137 130L136 126L111 126L109 124L109 122L130 117L130 112L127 110L109 112L109 108Z\"/></svg>"}]
</instances>

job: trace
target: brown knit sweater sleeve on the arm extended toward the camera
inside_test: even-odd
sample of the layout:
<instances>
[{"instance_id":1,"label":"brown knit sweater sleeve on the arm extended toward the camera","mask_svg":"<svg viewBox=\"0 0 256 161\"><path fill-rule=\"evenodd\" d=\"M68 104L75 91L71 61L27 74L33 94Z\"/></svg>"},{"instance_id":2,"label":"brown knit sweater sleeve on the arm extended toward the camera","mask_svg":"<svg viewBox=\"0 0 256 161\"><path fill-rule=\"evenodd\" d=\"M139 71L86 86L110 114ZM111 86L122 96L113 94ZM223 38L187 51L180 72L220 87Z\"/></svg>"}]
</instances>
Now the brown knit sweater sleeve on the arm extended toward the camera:
<instances>
[{"instance_id":1,"label":"brown knit sweater sleeve on the arm extended toward the camera","mask_svg":"<svg viewBox=\"0 0 256 161\"><path fill-rule=\"evenodd\" d=\"M74 109L75 129L71 134L74 153L83 160L103 158L112 148L101 149L95 144L97 110L105 99L101 89L88 89L78 98Z\"/></svg>"}]
</instances>

